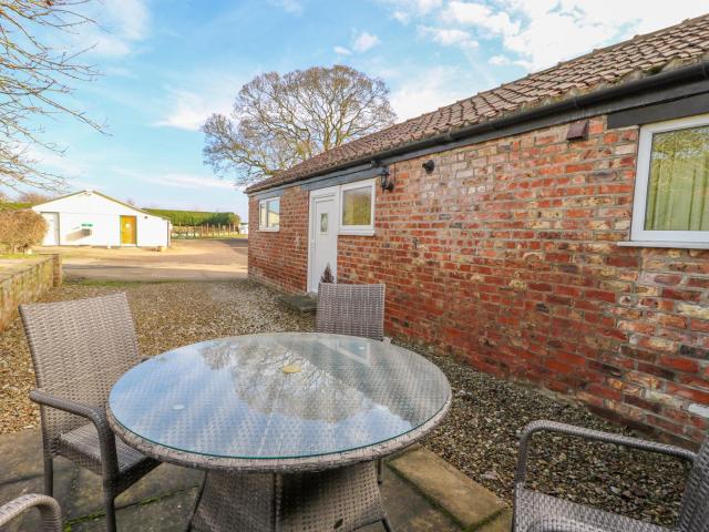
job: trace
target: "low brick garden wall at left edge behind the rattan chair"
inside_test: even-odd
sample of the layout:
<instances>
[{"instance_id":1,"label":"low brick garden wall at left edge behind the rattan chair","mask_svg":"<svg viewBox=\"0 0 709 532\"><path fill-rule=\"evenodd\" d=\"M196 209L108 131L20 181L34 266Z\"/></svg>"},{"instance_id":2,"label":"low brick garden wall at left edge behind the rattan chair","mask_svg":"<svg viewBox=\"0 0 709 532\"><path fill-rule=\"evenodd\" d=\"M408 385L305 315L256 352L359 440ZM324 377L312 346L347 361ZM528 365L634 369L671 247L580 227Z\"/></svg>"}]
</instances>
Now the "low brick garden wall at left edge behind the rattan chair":
<instances>
[{"instance_id":1,"label":"low brick garden wall at left edge behind the rattan chair","mask_svg":"<svg viewBox=\"0 0 709 532\"><path fill-rule=\"evenodd\" d=\"M0 262L0 331L18 315L18 306L39 299L62 284L60 255Z\"/></svg>"}]
</instances>

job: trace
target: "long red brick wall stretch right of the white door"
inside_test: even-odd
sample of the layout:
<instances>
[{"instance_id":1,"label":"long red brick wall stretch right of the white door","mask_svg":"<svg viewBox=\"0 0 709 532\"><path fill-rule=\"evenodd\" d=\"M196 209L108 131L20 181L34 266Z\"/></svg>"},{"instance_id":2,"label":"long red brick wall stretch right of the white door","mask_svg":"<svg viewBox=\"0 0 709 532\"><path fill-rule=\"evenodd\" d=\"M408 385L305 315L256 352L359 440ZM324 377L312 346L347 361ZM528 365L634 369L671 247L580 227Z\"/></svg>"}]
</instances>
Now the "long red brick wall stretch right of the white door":
<instances>
[{"instance_id":1,"label":"long red brick wall stretch right of the white door","mask_svg":"<svg viewBox=\"0 0 709 532\"><path fill-rule=\"evenodd\" d=\"M638 131L607 131L600 117L588 141L567 143L567 129L438 154L431 175L421 168L430 157L393 165L394 191L378 191L377 235L339 237L338 280L387 284L392 336L667 440L699 441L709 252L618 247Z\"/></svg>"}]
</instances>

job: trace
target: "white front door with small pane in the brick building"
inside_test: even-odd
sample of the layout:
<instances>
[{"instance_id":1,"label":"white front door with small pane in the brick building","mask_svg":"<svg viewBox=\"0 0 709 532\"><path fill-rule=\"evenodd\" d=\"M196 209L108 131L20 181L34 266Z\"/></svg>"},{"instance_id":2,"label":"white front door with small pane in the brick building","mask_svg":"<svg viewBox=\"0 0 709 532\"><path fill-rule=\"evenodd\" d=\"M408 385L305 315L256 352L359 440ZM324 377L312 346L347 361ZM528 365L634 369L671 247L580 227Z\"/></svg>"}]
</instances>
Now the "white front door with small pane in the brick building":
<instances>
[{"instance_id":1,"label":"white front door with small pane in the brick building","mask_svg":"<svg viewBox=\"0 0 709 532\"><path fill-rule=\"evenodd\" d=\"M328 190L310 193L310 263L308 291L317 293L320 277L329 265L337 278L337 193Z\"/></svg>"}]
</instances>

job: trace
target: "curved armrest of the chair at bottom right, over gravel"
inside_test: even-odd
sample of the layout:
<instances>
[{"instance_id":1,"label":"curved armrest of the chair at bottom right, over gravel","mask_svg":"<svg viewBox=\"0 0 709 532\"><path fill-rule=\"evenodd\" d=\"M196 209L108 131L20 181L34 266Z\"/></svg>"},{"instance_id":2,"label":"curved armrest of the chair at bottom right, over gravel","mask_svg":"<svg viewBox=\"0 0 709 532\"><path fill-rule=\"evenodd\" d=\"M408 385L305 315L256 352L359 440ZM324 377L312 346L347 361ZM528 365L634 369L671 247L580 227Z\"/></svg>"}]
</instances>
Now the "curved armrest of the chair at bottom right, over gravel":
<instances>
[{"instance_id":1,"label":"curved armrest of the chair at bottom right, over gravel","mask_svg":"<svg viewBox=\"0 0 709 532\"><path fill-rule=\"evenodd\" d=\"M639 438L630 438L628 436L614 434L612 432L603 432L600 430L585 429L573 424L559 423L556 421L533 421L524 428L522 438L520 439L520 458L517 459L517 472L515 474L515 485L522 483L526 477L527 459L530 454L530 440L536 432L558 432L567 436L575 436L587 440L604 441L606 443L616 443L643 451L658 452L671 457L681 458L693 462L697 454L681 447L657 443L655 441L641 440Z\"/></svg>"}]
</instances>

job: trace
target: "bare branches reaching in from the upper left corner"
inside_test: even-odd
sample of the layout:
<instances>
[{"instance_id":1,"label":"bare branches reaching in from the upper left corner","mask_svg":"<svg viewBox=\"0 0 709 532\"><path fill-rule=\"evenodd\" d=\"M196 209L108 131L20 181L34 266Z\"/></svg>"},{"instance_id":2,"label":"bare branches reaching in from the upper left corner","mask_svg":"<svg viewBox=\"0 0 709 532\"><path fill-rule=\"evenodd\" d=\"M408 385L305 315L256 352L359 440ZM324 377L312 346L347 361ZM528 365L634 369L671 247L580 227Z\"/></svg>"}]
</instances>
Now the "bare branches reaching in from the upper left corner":
<instances>
[{"instance_id":1,"label":"bare branches reaching in from the upper left corner","mask_svg":"<svg viewBox=\"0 0 709 532\"><path fill-rule=\"evenodd\" d=\"M38 119L69 114L92 127L100 125L66 105L71 83L90 81L96 72L76 61L83 50L54 49L56 33L91 23L79 6L91 0L0 0L0 185L47 191L63 178L38 165L37 149L59 151L42 139Z\"/></svg>"}]
</instances>

